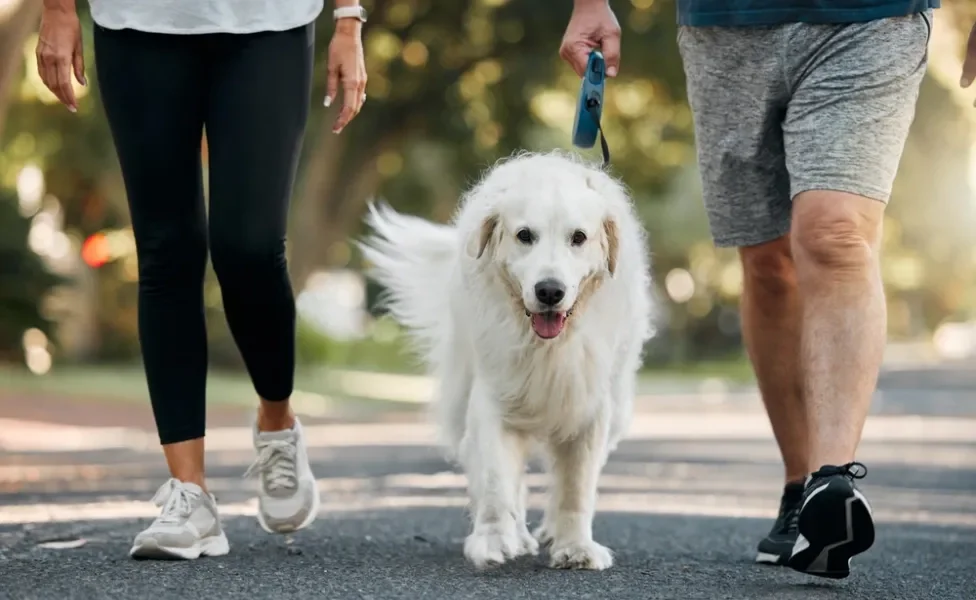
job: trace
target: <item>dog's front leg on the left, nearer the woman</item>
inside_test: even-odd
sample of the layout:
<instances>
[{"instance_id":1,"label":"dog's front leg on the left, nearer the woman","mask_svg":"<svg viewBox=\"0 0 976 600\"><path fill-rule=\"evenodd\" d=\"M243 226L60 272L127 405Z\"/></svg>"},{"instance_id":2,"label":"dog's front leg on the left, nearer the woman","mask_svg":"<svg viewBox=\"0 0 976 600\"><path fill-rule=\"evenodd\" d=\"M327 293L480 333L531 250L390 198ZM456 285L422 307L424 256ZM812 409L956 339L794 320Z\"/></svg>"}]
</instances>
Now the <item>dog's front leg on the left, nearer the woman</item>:
<instances>
[{"instance_id":1,"label":"dog's front leg on the left, nearer the woman","mask_svg":"<svg viewBox=\"0 0 976 600\"><path fill-rule=\"evenodd\" d=\"M519 535L520 483L525 471L525 436L506 427L497 399L475 379L462 454L474 527L464 556L479 569L537 550ZM524 521L524 510L522 511Z\"/></svg>"}]
</instances>

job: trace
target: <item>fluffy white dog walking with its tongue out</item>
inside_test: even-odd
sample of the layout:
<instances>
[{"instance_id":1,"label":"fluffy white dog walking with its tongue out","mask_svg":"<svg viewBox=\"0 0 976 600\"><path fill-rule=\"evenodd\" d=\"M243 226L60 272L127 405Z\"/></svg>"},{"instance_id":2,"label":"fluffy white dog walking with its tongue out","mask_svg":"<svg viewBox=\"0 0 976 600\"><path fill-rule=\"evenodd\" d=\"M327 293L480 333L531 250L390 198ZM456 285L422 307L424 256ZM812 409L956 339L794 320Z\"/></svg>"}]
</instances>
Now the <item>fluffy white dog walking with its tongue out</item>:
<instances>
[{"instance_id":1,"label":"fluffy white dog walking with its tongue out","mask_svg":"<svg viewBox=\"0 0 976 600\"><path fill-rule=\"evenodd\" d=\"M593 540L597 479L626 432L650 337L645 234L603 171L563 154L491 169L453 225L370 207L360 245L387 306L439 382L434 407L468 479L482 568L549 546L557 568L606 569ZM552 476L526 526L524 474L540 445Z\"/></svg>"}]
</instances>

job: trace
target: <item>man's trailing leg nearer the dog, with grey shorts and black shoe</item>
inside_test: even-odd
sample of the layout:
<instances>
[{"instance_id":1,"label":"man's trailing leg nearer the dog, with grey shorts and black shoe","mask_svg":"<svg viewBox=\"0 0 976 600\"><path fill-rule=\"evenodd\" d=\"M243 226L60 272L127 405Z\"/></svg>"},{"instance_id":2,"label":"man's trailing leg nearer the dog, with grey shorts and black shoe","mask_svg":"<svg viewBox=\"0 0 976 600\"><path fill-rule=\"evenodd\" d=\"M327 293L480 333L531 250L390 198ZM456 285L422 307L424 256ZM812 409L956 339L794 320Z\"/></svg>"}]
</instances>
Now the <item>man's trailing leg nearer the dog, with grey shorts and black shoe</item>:
<instances>
[{"instance_id":1,"label":"man's trailing leg nearer the dog, with grey shorts and black shoe","mask_svg":"<svg viewBox=\"0 0 976 600\"><path fill-rule=\"evenodd\" d=\"M787 234L790 178L781 123L783 28L682 28L678 43L695 119L705 207L716 245L738 247L743 337L786 465L779 515L756 561L785 564L808 472L799 379L800 309Z\"/></svg>"}]
</instances>

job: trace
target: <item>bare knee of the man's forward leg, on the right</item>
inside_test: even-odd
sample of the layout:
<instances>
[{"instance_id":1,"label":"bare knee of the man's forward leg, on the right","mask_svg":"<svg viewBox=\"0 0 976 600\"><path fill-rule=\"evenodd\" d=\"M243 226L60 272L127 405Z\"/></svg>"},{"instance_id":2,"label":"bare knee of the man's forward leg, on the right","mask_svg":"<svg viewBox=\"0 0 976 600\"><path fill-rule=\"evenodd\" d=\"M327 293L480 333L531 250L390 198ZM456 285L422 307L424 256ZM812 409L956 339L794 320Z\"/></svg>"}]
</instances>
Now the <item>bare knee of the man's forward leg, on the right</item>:
<instances>
[{"instance_id":1,"label":"bare knee of the man's forward leg, on the right","mask_svg":"<svg viewBox=\"0 0 976 600\"><path fill-rule=\"evenodd\" d=\"M793 253L802 269L862 274L877 262L884 204L844 192L812 191L793 203Z\"/></svg>"}]
</instances>

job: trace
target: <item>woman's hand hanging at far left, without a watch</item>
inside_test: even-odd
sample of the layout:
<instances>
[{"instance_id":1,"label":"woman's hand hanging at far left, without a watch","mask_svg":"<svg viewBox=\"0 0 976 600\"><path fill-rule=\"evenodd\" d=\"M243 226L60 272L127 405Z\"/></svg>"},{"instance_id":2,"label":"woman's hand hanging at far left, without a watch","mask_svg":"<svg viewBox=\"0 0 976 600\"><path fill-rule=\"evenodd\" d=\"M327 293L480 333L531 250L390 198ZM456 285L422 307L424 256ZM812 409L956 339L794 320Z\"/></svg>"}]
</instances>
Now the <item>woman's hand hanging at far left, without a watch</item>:
<instances>
[{"instance_id":1,"label":"woman's hand hanging at far left, without a watch","mask_svg":"<svg viewBox=\"0 0 976 600\"><path fill-rule=\"evenodd\" d=\"M68 110L76 112L78 100L71 85L72 72L81 85L88 85L88 81L81 47L81 24L74 0L45 1L36 54L41 81Z\"/></svg>"}]
</instances>

